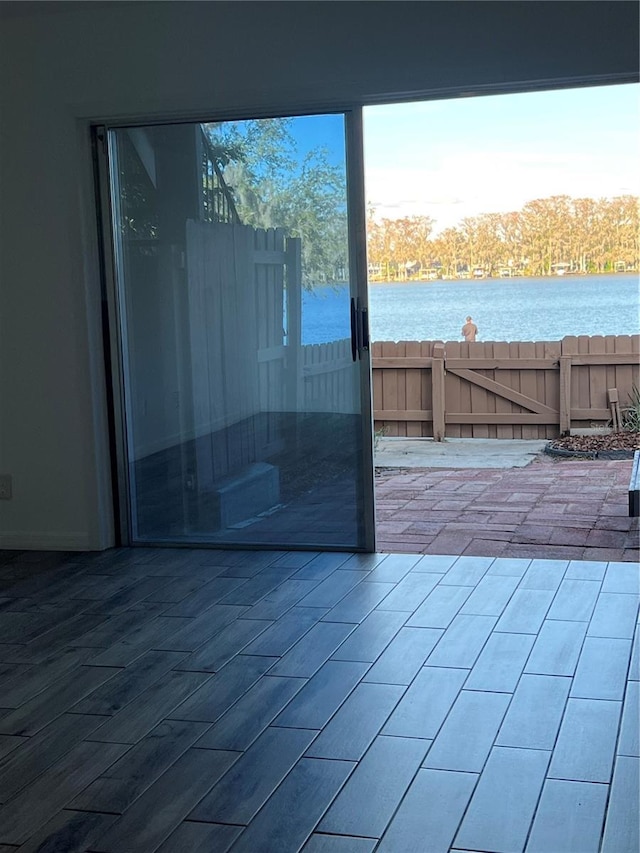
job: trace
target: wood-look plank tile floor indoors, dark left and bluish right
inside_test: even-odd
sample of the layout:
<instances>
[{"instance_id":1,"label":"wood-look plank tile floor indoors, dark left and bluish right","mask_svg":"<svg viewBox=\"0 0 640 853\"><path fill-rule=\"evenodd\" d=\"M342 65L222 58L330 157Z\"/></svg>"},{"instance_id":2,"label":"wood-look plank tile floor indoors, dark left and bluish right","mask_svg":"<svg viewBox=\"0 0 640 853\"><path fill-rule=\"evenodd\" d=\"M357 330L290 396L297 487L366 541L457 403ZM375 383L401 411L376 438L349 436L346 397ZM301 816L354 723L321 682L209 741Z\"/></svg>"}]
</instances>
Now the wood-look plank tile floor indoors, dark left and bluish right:
<instances>
[{"instance_id":1,"label":"wood-look plank tile floor indoors, dark left and bluish right","mask_svg":"<svg viewBox=\"0 0 640 853\"><path fill-rule=\"evenodd\" d=\"M637 853L639 569L0 551L0 853Z\"/></svg>"}]
</instances>

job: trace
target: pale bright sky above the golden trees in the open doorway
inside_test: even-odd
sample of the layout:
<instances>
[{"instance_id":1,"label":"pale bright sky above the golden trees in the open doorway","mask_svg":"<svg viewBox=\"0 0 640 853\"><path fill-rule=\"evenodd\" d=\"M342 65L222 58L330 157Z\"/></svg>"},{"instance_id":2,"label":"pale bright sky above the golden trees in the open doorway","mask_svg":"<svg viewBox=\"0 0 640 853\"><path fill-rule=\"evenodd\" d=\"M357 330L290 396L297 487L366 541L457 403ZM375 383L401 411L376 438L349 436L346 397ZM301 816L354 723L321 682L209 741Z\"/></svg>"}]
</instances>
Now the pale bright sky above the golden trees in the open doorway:
<instances>
[{"instance_id":1,"label":"pale bright sky above the golden trees in the open doorway","mask_svg":"<svg viewBox=\"0 0 640 853\"><path fill-rule=\"evenodd\" d=\"M367 203L378 217L465 216L550 195L640 195L640 86L366 107Z\"/></svg>"}]
</instances>

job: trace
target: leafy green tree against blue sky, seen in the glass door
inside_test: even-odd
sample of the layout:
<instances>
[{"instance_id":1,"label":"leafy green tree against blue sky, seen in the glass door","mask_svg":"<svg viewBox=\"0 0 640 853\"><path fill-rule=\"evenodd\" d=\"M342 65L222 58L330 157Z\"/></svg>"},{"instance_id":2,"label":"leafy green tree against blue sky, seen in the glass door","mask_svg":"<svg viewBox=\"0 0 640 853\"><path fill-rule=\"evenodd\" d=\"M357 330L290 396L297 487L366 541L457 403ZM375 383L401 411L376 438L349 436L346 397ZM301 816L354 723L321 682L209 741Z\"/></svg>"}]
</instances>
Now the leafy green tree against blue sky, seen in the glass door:
<instances>
[{"instance_id":1,"label":"leafy green tree against blue sky, seen in the glass door","mask_svg":"<svg viewBox=\"0 0 640 853\"><path fill-rule=\"evenodd\" d=\"M347 275L344 170L325 149L300 158L292 119L204 125L241 221L300 237L305 286Z\"/></svg>"}]
</instances>

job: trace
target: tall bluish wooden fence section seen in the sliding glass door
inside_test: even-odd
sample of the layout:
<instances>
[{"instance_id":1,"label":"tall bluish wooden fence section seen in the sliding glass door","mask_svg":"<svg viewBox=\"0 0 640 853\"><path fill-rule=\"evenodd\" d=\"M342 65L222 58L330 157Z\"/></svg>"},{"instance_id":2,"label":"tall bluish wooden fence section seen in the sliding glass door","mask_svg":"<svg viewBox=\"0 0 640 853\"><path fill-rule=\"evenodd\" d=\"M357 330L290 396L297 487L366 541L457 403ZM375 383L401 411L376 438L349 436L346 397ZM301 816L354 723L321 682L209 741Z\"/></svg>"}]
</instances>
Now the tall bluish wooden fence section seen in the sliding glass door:
<instances>
[{"instance_id":1,"label":"tall bluish wooden fence section seen in the sliding glass door","mask_svg":"<svg viewBox=\"0 0 640 853\"><path fill-rule=\"evenodd\" d=\"M295 411L298 388L300 241L282 229L189 222L186 267L186 408L206 489L283 445L278 414Z\"/></svg>"}]
</instances>

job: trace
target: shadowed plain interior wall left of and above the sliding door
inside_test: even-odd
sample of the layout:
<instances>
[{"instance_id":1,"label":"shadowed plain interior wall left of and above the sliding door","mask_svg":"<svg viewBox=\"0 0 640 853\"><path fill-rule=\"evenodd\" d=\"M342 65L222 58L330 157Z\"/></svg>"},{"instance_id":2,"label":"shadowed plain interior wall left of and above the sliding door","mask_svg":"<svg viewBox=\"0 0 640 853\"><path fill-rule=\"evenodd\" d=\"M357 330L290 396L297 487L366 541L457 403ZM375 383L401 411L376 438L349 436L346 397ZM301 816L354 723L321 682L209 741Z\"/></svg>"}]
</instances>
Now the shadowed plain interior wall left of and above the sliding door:
<instances>
[{"instance_id":1,"label":"shadowed plain interior wall left of and above the sliding door","mask_svg":"<svg viewBox=\"0 0 640 853\"><path fill-rule=\"evenodd\" d=\"M0 7L9 548L112 542L90 119L286 111L638 69L635 2L33 5Z\"/></svg>"}]
</instances>

